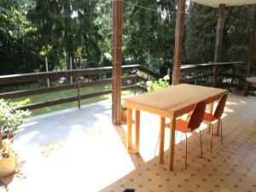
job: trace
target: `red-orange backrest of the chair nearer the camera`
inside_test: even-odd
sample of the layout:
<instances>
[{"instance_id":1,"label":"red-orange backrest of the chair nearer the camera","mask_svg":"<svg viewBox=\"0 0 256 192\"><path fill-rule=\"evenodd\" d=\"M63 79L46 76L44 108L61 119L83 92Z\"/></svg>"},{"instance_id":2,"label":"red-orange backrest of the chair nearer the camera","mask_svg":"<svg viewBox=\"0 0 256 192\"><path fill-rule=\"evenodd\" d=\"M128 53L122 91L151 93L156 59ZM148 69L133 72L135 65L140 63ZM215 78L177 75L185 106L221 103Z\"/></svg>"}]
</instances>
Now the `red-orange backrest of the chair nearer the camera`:
<instances>
[{"instance_id":1,"label":"red-orange backrest of the chair nearer the camera","mask_svg":"<svg viewBox=\"0 0 256 192\"><path fill-rule=\"evenodd\" d=\"M193 131L197 129L204 118L207 101L198 102L195 105L194 111L189 119L189 128Z\"/></svg>"}]
</instances>

